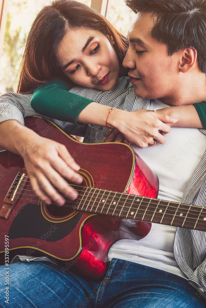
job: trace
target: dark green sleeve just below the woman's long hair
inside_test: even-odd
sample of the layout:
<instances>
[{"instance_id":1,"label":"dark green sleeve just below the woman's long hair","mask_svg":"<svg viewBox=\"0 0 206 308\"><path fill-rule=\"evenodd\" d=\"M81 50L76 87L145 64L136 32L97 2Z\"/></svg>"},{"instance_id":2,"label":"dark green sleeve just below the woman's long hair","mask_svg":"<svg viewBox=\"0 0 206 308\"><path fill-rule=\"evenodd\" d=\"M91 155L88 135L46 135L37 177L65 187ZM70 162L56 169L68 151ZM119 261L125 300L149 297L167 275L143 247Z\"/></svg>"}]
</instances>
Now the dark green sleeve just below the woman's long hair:
<instances>
[{"instance_id":1,"label":"dark green sleeve just below the woman's long hair","mask_svg":"<svg viewBox=\"0 0 206 308\"><path fill-rule=\"evenodd\" d=\"M93 101L68 92L72 86L64 79L52 79L34 91L31 99L32 108L39 114L53 119L78 124L78 115Z\"/></svg>"}]
</instances>

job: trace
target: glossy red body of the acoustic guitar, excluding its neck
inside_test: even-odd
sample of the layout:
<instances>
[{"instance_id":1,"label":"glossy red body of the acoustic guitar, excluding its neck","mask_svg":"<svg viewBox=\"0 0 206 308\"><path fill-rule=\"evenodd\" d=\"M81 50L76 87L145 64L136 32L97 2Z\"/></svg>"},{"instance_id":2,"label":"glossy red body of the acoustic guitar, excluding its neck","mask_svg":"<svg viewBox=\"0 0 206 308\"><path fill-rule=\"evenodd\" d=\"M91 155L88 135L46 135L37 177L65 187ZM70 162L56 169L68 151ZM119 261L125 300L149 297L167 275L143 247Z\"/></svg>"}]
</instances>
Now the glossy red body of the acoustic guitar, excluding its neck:
<instances>
[{"instance_id":1,"label":"glossy red body of the acoustic guitar, excluding its neck","mask_svg":"<svg viewBox=\"0 0 206 308\"><path fill-rule=\"evenodd\" d=\"M48 120L29 117L25 123L39 135L65 144L81 166L79 173L84 179L83 186L157 197L157 176L126 144L83 144ZM22 168L20 156L8 151L0 153L0 209ZM119 217L77 212L64 206L46 206L32 192L29 179L22 187L9 217L0 218L1 264L5 264L6 235L9 237L10 262L16 255L47 256L62 269L99 281L106 273L111 245L121 238L142 238L151 228L150 223L137 221L135 228L125 230Z\"/></svg>"}]
</instances>

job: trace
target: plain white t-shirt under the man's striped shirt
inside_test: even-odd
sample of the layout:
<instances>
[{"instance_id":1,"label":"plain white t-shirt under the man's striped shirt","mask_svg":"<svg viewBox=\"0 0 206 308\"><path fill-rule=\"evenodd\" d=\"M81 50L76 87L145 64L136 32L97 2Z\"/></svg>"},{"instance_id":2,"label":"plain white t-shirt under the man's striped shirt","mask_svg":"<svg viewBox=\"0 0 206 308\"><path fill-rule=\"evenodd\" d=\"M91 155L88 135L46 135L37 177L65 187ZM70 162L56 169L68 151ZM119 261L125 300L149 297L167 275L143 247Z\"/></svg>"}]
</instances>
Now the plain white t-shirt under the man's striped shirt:
<instances>
[{"instance_id":1,"label":"plain white t-shirt under the man's striped shirt","mask_svg":"<svg viewBox=\"0 0 206 308\"><path fill-rule=\"evenodd\" d=\"M170 107L158 99L147 109ZM206 136L197 128L171 128L166 144L138 148L135 152L159 178L158 199L180 202L186 185L205 151ZM121 240L108 253L108 258L120 258L154 267L186 278L173 253L176 227L152 223L149 234L140 241Z\"/></svg>"}]
</instances>

